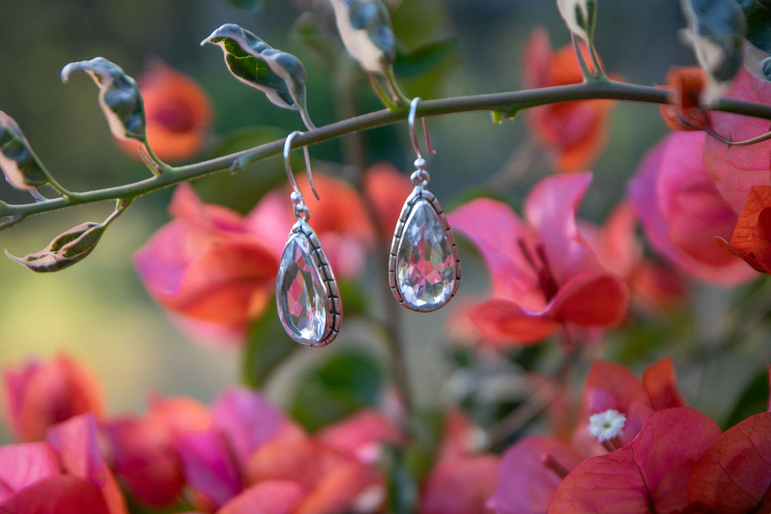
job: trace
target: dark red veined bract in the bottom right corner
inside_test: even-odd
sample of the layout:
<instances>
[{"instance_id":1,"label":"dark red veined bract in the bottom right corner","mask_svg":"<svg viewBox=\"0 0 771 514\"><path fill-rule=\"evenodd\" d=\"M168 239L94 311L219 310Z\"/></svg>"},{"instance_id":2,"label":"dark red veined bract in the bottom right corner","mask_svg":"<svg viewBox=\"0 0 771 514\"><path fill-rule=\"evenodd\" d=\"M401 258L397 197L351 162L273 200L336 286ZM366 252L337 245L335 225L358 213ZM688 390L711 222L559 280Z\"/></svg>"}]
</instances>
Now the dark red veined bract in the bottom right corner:
<instances>
[{"instance_id":1,"label":"dark red veined bract in the bottom right corner","mask_svg":"<svg viewBox=\"0 0 771 514\"><path fill-rule=\"evenodd\" d=\"M715 514L771 510L771 412L729 428L696 462L688 499Z\"/></svg>"}]
</instances>

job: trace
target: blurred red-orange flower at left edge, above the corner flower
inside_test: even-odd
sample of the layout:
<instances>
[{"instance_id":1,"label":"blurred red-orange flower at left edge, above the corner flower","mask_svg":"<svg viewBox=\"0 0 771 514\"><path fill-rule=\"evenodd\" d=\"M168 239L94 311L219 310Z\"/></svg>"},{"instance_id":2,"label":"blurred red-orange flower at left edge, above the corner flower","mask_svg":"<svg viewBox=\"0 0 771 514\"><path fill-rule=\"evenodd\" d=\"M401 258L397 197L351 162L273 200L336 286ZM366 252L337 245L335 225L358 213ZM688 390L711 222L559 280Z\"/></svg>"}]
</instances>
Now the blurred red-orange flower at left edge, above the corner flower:
<instances>
[{"instance_id":1,"label":"blurred red-orange flower at left edge, above the corner flower","mask_svg":"<svg viewBox=\"0 0 771 514\"><path fill-rule=\"evenodd\" d=\"M15 438L42 438L51 425L92 412L102 416L102 391L91 372L66 355L2 370L3 416Z\"/></svg>"}]
</instances>

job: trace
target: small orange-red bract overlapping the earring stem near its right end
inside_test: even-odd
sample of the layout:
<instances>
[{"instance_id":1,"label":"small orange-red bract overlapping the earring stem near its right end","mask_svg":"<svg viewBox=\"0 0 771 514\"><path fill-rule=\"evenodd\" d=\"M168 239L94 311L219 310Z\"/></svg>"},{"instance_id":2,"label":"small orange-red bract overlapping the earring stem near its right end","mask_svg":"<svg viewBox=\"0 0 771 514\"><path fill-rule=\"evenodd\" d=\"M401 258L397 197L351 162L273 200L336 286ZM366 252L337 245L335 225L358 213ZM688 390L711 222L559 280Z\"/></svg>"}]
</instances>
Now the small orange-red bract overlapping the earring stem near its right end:
<instances>
[{"instance_id":1,"label":"small orange-red bract overlapping the earring stem near its right end","mask_svg":"<svg viewBox=\"0 0 771 514\"><path fill-rule=\"evenodd\" d=\"M698 66L672 66L667 83L672 88L672 105L662 105L662 116L669 128L701 130L707 126L707 113L699 101L707 85L706 72Z\"/></svg>"}]
</instances>

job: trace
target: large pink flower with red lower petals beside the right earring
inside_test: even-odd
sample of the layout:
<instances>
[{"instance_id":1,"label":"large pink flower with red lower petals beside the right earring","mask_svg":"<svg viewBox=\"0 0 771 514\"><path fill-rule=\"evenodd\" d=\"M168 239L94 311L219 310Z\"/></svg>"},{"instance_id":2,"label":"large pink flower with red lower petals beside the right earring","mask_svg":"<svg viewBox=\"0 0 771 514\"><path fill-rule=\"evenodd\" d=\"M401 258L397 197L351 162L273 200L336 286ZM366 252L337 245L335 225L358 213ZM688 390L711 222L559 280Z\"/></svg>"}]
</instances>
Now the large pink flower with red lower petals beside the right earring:
<instances>
[{"instance_id":1,"label":"large pink flower with red lower petals beside the right earring","mask_svg":"<svg viewBox=\"0 0 771 514\"><path fill-rule=\"evenodd\" d=\"M625 282L598 264L576 226L590 182L591 173L542 180L525 200L527 221L489 199L449 214L453 230L473 241L493 276L493 299L469 314L487 341L534 344L561 323L612 327L624 319Z\"/></svg>"}]
</instances>

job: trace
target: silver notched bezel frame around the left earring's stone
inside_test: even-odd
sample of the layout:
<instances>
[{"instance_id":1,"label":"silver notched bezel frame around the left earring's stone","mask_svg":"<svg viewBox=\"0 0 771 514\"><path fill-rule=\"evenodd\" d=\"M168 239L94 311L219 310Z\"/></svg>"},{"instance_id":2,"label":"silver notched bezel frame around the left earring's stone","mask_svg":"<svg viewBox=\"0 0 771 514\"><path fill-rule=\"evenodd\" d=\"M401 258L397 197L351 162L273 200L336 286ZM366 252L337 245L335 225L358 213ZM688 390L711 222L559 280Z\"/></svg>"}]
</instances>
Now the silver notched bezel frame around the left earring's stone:
<instances>
[{"instance_id":1,"label":"silver notched bezel frame around the left earring's stone","mask_svg":"<svg viewBox=\"0 0 771 514\"><path fill-rule=\"evenodd\" d=\"M340 326L342 324L342 303L340 301L340 290L338 288L337 281L335 281L335 275L332 273L332 267L329 266L329 261L324 254L321 241L318 240L316 233L305 221L299 220L293 227L287 237L287 244L291 241L292 237L305 237L311 247L311 259L313 264L318 270L318 276L321 278L322 287L325 292L324 307L326 311L326 325L327 328L322 334L322 338L315 343L308 343L306 340L295 338L295 334L291 330L287 330L288 322L284 319L283 310L281 309L281 280L276 281L276 305L278 307L278 317L281 320L281 325L284 327L284 331L287 332L290 338L294 339L300 344L309 346L311 348L321 348L326 346L335 340L340 333ZM286 248L286 246L284 246ZM283 259L284 255L281 254Z\"/></svg>"}]
</instances>

